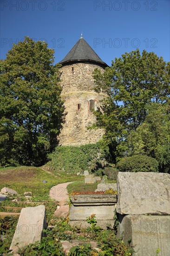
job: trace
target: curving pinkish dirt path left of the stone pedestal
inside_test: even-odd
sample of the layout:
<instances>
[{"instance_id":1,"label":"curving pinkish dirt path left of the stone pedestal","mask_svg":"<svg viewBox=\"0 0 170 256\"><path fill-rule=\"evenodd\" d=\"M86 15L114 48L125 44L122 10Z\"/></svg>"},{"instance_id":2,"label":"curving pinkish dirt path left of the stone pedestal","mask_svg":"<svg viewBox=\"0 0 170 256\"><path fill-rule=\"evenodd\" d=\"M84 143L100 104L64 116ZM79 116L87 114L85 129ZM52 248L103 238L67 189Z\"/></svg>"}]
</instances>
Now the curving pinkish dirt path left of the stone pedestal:
<instances>
[{"instance_id":1,"label":"curving pinkish dirt path left of the stone pedestal","mask_svg":"<svg viewBox=\"0 0 170 256\"><path fill-rule=\"evenodd\" d=\"M58 217L66 217L69 212L69 205L68 205L68 192L67 186L72 182L66 182L58 184L50 189L50 197L53 200L59 202L59 206L57 207L56 211L54 212L55 216Z\"/></svg>"}]
</instances>

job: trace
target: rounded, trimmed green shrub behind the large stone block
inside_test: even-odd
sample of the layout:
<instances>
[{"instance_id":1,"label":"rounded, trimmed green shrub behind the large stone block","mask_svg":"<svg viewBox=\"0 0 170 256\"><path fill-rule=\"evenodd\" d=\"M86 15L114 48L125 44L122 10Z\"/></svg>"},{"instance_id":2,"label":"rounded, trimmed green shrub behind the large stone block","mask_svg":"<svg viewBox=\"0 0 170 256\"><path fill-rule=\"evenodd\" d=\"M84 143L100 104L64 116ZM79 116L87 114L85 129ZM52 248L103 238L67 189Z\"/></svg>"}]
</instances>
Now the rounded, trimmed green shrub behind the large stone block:
<instances>
[{"instance_id":1,"label":"rounded, trimmed green shrub behind the large stone block","mask_svg":"<svg viewBox=\"0 0 170 256\"><path fill-rule=\"evenodd\" d=\"M158 172L158 162L147 155L122 158L116 165L120 172Z\"/></svg>"}]
</instances>

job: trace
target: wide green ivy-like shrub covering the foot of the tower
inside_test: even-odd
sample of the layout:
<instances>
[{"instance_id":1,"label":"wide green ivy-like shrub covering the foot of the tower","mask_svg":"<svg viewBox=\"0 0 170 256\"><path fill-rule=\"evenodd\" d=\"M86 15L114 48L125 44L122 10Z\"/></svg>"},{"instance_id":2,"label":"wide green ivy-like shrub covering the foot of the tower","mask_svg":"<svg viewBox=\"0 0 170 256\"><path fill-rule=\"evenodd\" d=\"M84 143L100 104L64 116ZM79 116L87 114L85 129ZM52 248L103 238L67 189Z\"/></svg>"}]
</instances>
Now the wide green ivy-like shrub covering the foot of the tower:
<instances>
[{"instance_id":1,"label":"wide green ivy-like shrub covering the foot of the tower","mask_svg":"<svg viewBox=\"0 0 170 256\"><path fill-rule=\"evenodd\" d=\"M76 174L84 170L104 167L109 159L109 148L102 143L82 146L59 146L49 155L49 163L56 171Z\"/></svg>"}]
</instances>

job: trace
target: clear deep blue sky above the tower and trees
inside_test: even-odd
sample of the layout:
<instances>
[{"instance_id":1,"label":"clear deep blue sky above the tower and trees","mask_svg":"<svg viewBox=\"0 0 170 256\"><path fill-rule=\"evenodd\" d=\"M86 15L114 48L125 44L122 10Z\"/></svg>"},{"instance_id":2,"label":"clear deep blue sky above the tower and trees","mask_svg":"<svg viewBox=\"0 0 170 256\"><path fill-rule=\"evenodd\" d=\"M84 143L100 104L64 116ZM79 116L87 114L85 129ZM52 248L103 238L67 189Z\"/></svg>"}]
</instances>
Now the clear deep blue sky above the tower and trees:
<instances>
[{"instance_id":1,"label":"clear deep blue sky above the tower and trees","mask_svg":"<svg viewBox=\"0 0 170 256\"><path fill-rule=\"evenodd\" d=\"M84 39L108 65L137 47L170 61L169 0L0 0L0 59L25 36L61 61Z\"/></svg>"}]
</instances>

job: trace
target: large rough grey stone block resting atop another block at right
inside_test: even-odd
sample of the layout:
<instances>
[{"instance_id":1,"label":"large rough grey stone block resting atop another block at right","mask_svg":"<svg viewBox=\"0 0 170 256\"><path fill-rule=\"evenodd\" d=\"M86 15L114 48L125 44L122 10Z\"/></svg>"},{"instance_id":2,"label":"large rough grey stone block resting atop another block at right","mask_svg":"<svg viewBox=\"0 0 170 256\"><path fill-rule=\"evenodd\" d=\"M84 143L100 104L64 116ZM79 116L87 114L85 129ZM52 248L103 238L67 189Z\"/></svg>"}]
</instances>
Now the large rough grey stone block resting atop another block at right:
<instances>
[{"instance_id":1,"label":"large rough grey stone block resting atop another block at right","mask_svg":"<svg viewBox=\"0 0 170 256\"><path fill-rule=\"evenodd\" d=\"M122 215L170 215L170 175L119 172L117 212Z\"/></svg>"}]
</instances>

